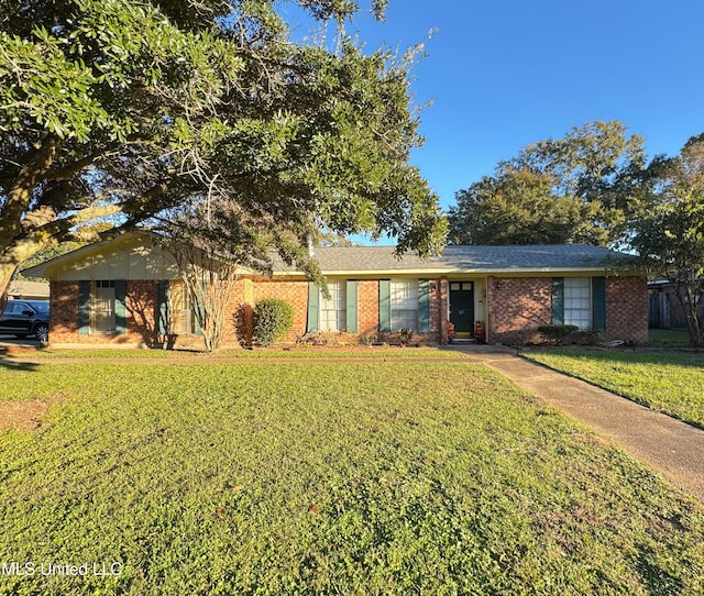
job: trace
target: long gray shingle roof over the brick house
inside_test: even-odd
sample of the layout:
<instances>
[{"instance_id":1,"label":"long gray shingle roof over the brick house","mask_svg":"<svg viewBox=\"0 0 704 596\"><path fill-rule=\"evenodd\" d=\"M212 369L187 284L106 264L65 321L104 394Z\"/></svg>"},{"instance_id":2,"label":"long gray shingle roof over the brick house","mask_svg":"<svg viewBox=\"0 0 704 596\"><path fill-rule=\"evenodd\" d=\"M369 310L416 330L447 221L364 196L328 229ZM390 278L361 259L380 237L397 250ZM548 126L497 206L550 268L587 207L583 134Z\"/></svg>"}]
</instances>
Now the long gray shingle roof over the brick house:
<instances>
[{"instance_id":1,"label":"long gray shingle roof over the brick house","mask_svg":"<svg viewBox=\"0 0 704 596\"><path fill-rule=\"evenodd\" d=\"M632 267L635 257L586 244L530 246L447 246L441 256L419 258L414 252L403 257L393 246L318 246L315 257L324 274L336 272L528 272L546 269ZM292 271L275 263L274 271Z\"/></svg>"}]
</instances>

